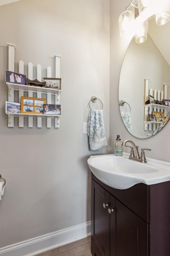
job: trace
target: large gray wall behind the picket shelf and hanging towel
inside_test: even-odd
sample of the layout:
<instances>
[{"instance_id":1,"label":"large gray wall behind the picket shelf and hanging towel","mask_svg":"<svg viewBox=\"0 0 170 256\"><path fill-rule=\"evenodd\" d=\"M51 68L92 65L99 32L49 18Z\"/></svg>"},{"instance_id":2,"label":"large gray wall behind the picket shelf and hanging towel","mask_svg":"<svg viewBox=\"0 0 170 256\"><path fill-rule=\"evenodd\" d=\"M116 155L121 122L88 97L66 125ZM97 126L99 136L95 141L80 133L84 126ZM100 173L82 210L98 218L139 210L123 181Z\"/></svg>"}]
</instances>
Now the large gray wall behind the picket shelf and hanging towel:
<instances>
[{"instance_id":1,"label":"large gray wall behind the picket shelf and hanging towel","mask_svg":"<svg viewBox=\"0 0 170 256\"><path fill-rule=\"evenodd\" d=\"M90 221L91 152L83 122L88 102L104 105L109 142L109 0L22 0L0 7L0 142L6 189L0 202L0 247ZM17 62L53 67L61 55L60 128L7 127L7 43ZM25 72L27 74L27 71ZM34 69L36 78L36 69ZM95 104L95 103L94 103ZM92 105L100 107L99 105ZM109 146L98 154L107 154Z\"/></svg>"}]
</instances>

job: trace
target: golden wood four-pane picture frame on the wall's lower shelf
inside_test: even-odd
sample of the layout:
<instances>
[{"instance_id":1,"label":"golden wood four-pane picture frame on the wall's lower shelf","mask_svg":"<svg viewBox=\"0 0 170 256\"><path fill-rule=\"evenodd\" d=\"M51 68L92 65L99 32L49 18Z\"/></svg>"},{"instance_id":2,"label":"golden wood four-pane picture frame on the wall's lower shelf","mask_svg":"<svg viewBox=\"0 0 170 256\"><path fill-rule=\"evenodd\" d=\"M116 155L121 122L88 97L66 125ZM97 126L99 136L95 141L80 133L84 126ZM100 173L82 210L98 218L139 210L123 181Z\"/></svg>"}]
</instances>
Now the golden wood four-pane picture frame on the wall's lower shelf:
<instances>
[{"instance_id":1,"label":"golden wood four-pane picture frame on the wall's lower shelf","mask_svg":"<svg viewBox=\"0 0 170 256\"><path fill-rule=\"evenodd\" d=\"M44 114L46 99L21 96L21 113Z\"/></svg>"}]
</instances>

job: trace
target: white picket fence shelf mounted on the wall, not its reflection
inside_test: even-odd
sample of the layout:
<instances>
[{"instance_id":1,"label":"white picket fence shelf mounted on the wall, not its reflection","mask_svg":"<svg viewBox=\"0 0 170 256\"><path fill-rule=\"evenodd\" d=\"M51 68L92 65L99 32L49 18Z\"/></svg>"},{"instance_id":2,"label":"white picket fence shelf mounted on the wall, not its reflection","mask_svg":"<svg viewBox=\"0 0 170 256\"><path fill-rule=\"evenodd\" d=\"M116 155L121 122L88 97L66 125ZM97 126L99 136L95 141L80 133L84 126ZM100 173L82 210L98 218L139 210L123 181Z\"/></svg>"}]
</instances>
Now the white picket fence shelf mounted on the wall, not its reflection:
<instances>
[{"instance_id":1,"label":"white picket fence shelf mounted on the wall, not its reflection","mask_svg":"<svg viewBox=\"0 0 170 256\"><path fill-rule=\"evenodd\" d=\"M14 71L15 64L15 45L7 43L8 45L8 70ZM60 78L60 58L59 55L54 55L56 59L56 74L55 78ZM37 79L42 81L41 77L41 65L37 65ZM17 72L18 73L18 72ZM19 73L24 74L24 62L19 61ZM51 67L47 67L47 76L51 78ZM28 78L33 80L33 64L28 63ZM8 86L8 101L14 102L14 91L19 91L19 99L20 102L21 96L24 96L24 92L27 92L28 97L33 97L33 93L37 94L37 98L44 98L42 94L46 94L47 104L52 104L52 95L54 98L53 104L60 105L60 93L61 90L53 89L53 88L43 88L38 86L28 86L28 85L19 85L14 83L6 82ZM37 118L37 128L42 127L42 118L47 119L47 128L51 128L51 119L55 118L55 128L60 127L60 117L61 115L47 115L47 114L31 114L31 113L6 113L8 115L8 127L14 127L14 117L19 118L19 127L24 127L24 117L28 118L28 127L33 127L33 118Z\"/></svg>"}]
</instances>

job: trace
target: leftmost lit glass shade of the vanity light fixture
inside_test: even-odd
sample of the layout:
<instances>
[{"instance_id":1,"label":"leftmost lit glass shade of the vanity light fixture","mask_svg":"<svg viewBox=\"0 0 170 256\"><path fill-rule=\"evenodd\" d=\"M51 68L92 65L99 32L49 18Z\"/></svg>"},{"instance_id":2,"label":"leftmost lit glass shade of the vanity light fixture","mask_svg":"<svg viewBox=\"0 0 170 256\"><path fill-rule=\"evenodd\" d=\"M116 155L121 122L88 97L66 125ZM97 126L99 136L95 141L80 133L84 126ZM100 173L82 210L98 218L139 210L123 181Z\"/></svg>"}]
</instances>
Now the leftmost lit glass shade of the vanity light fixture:
<instances>
[{"instance_id":1,"label":"leftmost lit glass shade of the vanity light fixture","mask_svg":"<svg viewBox=\"0 0 170 256\"><path fill-rule=\"evenodd\" d=\"M118 19L119 31L121 37L129 37L132 32L132 23L134 15L131 11L124 11Z\"/></svg>"}]
</instances>

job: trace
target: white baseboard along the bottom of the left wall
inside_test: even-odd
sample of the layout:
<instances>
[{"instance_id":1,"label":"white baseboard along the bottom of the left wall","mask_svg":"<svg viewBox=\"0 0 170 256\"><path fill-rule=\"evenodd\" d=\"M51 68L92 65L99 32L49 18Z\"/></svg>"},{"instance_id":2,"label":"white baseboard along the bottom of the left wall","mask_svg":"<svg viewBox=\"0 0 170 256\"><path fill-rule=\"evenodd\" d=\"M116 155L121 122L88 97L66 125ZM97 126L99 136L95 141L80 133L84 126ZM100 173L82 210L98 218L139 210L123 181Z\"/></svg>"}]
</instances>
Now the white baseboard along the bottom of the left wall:
<instances>
[{"instance_id":1,"label":"white baseboard along the bottom of the left wall","mask_svg":"<svg viewBox=\"0 0 170 256\"><path fill-rule=\"evenodd\" d=\"M26 241L0 248L1 256L35 256L91 234L91 222L61 229Z\"/></svg>"}]
</instances>

